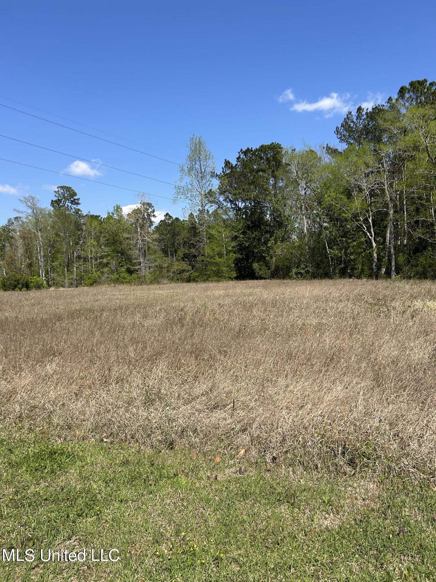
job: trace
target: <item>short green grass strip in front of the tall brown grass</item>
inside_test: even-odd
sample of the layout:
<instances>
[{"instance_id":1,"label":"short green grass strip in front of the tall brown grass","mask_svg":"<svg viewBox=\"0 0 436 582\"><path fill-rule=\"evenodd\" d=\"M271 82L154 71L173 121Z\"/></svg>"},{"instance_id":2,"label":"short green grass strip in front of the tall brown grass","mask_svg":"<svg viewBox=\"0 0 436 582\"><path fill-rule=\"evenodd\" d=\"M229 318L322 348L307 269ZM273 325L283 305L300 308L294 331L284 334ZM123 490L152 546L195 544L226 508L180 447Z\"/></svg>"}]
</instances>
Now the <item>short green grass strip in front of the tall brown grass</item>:
<instances>
[{"instance_id":1,"label":"short green grass strip in front of the tall brown grass","mask_svg":"<svg viewBox=\"0 0 436 582\"><path fill-rule=\"evenodd\" d=\"M27 432L0 461L0 548L37 556L0 562L2 581L436 580L431 484ZM120 560L39 559L83 547Z\"/></svg>"}]
</instances>

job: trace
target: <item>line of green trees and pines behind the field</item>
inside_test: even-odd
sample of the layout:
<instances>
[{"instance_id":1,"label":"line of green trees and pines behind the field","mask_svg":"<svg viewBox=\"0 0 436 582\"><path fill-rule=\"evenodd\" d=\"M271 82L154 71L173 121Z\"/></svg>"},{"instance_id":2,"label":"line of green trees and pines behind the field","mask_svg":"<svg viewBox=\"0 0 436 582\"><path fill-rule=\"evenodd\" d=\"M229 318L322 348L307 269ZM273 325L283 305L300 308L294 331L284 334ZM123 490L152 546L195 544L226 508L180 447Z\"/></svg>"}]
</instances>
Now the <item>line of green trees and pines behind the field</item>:
<instances>
[{"instance_id":1,"label":"line of green trees and pines behind the field","mask_svg":"<svg viewBox=\"0 0 436 582\"><path fill-rule=\"evenodd\" d=\"M0 227L0 288L230 279L436 276L436 82L348 112L339 144L241 149L219 172L192 136L165 217L138 193L129 214L84 213L70 186Z\"/></svg>"}]
</instances>

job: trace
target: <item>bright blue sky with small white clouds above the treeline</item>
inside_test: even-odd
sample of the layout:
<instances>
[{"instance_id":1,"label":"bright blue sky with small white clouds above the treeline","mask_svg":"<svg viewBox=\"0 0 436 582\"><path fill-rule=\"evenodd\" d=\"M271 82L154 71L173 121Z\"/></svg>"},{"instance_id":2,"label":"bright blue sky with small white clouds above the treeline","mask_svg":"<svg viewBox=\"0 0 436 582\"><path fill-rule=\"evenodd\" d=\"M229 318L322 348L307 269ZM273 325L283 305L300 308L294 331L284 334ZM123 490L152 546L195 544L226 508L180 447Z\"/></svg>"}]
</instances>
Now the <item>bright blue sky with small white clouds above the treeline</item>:
<instances>
[{"instance_id":1,"label":"bright blue sky with small white clouds above the treeline","mask_svg":"<svg viewBox=\"0 0 436 582\"><path fill-rule=\"evenodd\" d=\"M262 143L334 143L348 108L384 100L412 79L434 80L435 30L436 5L428 0L16 0L2 7L0 103L177 163L189 137L202 135L220 169L224 158ZM4 107L0 127L74 156L0 137L1 158L173 196L169 184L77 158L170 183L177 164ZM74 187L84 212L105 215L114 204L135 203L134 191L78 178L0 161L0 223L15 215L20 195L49 205L59 184ZM150 199L156 210L181 216L181 205Z\"/></svg>"}]
</instances>

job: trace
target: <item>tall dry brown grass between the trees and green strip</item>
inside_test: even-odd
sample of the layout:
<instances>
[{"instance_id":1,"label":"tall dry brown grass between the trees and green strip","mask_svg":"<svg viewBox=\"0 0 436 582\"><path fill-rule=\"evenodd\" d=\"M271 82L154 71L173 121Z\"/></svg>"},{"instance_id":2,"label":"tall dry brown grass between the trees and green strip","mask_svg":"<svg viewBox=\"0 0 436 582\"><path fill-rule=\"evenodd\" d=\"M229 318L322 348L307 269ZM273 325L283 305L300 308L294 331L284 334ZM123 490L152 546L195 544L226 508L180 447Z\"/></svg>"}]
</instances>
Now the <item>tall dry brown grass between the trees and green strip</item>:
<instances>
[{"instance_id":1,"label":"tall dry brown grass between the trees and green strip","mask_svg":"<svg viewBox=\"0 0 436 582\"><path fill-rule=\"evenodd\" d=\"M432 282L2 293L0 418L431 474L435 300Z\"/></svg>"}]
</instances>

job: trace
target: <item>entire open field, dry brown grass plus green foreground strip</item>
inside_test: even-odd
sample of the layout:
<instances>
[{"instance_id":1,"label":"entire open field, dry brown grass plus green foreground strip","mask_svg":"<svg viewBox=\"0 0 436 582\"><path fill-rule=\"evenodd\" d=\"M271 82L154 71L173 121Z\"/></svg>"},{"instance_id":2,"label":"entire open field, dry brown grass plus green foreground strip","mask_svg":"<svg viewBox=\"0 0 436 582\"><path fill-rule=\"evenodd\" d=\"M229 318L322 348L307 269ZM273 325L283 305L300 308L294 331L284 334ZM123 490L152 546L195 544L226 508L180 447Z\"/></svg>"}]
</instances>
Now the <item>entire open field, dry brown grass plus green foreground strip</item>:
<instances>
[{"instance_id":1,"label":"entire open field, dry brown grass plus green foreground strip","mask_svg":"<svg viewBox=\"0 0 436 582\"><path fill-rule=\"evenodd\" d=\"M122 556L2 579L433 580L435 356L432 282L0 294L1 545Z\"/></svg>"}]
</instances>

